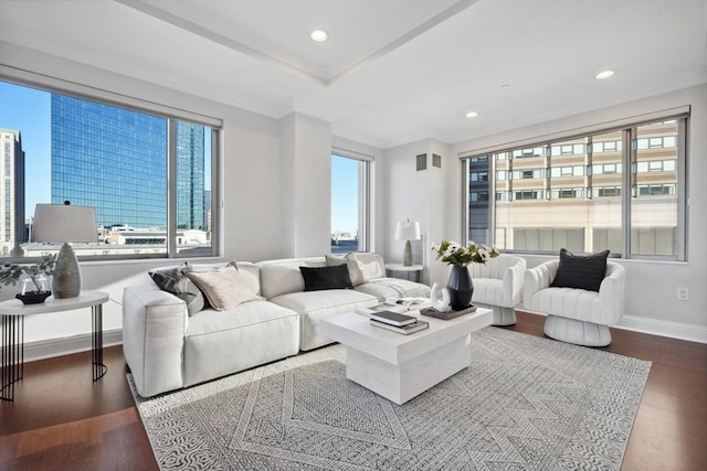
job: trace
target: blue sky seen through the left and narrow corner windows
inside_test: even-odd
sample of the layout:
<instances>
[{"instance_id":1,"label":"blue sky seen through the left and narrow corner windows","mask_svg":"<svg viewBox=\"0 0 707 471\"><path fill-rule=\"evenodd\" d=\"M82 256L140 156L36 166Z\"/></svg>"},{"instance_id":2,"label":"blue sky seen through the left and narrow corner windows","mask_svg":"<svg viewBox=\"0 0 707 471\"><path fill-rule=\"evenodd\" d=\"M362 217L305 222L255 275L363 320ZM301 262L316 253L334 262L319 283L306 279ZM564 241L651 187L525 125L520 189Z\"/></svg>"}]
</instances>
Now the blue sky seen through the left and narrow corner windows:
<instances>
[{"instance_id":1,"label":"blue sky seen through the left and narrow corner windows","mask_svg":"<svg viewBox=\"0 0 707 471\"><path fill-rule=\"evenodd\" d=\"M48 92L0 81L0 128L20 130L25 154L25 215L38 203L51 203L51 95ZM207 156L210 149L205 149ZM210 172L210 162L205 169ZM209 179L207 179L209 180ZM210 189L210 181L207 190ZM358 228L358 161L331 160L331 229L356 233Z\"/></svg>"}]
</instances>

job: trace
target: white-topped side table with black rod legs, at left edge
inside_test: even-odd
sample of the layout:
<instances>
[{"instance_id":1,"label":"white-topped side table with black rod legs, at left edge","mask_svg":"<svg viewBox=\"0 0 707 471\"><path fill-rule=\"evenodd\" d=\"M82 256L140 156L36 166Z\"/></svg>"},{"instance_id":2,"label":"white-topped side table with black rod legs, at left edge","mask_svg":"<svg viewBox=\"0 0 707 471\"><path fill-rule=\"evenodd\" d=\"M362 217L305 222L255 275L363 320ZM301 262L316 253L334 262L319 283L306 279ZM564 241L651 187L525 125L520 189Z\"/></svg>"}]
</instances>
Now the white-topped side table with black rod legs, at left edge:
<instances>
[{"instance_id":1,"label":"white-topped side table with black rod legs, at left edge","mask_svg":"<svg viewBox=\"0 0 707 471\"><path fill-rule=\"evenodd\" d=\"M24 318L31 314L71 311L91 308L93 352L93 381L101 379L108 371L103 363L103 304L108 301L108 293L103 291L82 291L76 298L46 298L38 304L23 304L19 299L0 302L2 318L2 389L0 399L14 400L14 383L24 375Z\"/></svg>"}]
</instances>

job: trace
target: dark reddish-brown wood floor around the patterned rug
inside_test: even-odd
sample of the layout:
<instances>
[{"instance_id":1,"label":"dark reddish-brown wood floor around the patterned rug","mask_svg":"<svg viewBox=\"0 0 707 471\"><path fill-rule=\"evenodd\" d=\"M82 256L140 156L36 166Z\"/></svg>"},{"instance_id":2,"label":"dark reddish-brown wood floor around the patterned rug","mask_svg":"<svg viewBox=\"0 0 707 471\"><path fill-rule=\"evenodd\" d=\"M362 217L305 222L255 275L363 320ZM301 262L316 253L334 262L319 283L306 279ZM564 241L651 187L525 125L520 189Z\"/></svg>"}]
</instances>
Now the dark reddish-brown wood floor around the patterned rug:
<instances>
[{"instance_id":1,"label":"dark reddish-brown wood floor around the patterned rug","mask_svg":"<svg viewBox=\"0 0 707 471\"><path fill-rule=\"evenodd\" d=\"M542 335L518 313L510 330ZM707 469L707 345L612 330L602 350L653 362L622 470ZM157 470L125 381L119 346L92 383L91 354L28 363L15 400L0 403L0 470Z\"/></svg>"}]
</instances>

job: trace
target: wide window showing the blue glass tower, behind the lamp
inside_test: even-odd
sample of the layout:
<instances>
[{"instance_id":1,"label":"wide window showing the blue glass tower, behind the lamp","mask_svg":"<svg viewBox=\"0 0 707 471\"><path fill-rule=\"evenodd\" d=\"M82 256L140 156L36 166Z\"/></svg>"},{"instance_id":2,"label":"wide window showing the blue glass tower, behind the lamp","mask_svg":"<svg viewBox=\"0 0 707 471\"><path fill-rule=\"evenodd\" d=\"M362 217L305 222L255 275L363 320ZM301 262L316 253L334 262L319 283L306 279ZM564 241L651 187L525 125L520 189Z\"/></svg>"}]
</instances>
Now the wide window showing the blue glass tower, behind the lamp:
<instances>
[{"instance_id":1,"label":"wide window showing the blue glass tower, behind the lamp","mask_svg":"<svg viewBox=\"0 0 707 471\"><path fill-rule=\"evenodd\" d=\"M218 126L6 82L0 100L3 257L57 251L32 242L32 215L64 201L96 211L98 242L74 244L82 258L215 255Z\"/></svg>"}]
</instances>

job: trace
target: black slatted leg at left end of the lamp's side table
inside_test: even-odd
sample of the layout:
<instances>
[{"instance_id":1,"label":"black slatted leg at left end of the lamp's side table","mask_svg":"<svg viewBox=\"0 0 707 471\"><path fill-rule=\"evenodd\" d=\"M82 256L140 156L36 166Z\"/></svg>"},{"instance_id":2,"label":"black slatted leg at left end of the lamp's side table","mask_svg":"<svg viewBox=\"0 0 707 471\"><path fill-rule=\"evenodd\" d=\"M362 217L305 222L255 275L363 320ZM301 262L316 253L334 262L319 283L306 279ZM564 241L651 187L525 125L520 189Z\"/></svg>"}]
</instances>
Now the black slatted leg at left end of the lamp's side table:
<instances>
[{"instance_id":1,"label":"black slatted leg at left end of the lamp's side table","mask_svg":"<svg viewBox=\"0 0 707 471\"><path fill-rule=\"evenodd\" d=\"M24 317L2 315L1 400L14 400L14 383L24 375Z\"/></svg>"}]
</instances>

